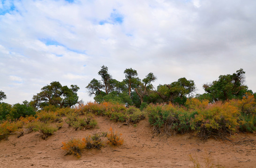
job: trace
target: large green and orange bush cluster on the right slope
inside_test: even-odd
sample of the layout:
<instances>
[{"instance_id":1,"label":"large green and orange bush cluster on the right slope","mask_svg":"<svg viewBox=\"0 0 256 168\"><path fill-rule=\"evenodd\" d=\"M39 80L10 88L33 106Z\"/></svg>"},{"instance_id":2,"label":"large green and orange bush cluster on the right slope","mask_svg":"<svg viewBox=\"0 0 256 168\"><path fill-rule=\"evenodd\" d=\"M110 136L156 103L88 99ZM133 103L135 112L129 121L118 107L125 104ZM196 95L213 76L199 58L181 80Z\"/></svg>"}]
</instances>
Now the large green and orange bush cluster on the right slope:
<instances>
[{"instance_id":1,"label":"large green and orange bush cluster on the right slope","mask_svg":"<svg viewBox=\"0 0 256 168\"><path fill-rule=\"evenodd\" d=\"M194 131L206 140L210 137L224 138L239 131L256 131L256 101L251 94L246 94L241 100L214 104L190 98L185 106L149 105L144 111L157 134Z\"/></svg>"}]
</instances>

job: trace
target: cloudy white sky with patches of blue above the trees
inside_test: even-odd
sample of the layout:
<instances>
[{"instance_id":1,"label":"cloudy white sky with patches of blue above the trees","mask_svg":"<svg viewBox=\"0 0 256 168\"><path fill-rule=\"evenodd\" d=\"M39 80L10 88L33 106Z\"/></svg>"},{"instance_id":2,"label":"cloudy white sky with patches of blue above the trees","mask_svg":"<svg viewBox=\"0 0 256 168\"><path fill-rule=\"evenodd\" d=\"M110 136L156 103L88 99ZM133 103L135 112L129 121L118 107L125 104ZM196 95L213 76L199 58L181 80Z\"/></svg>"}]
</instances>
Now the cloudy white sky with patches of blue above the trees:
<instances>
[{"instance_id":1,"label":"cloudy white sky with patches of blue above the trees","mask_svg":"<svg viewBox=\"0 0 256 168\"><path fill-rule=\"evenodd\" d=\"M193 80L196 93L219 75L246 72L256 92L256 0L0 0L0 91L30 101L53 81L85 87L101 66L170 84Z\"/></svg>"}]
</instances>

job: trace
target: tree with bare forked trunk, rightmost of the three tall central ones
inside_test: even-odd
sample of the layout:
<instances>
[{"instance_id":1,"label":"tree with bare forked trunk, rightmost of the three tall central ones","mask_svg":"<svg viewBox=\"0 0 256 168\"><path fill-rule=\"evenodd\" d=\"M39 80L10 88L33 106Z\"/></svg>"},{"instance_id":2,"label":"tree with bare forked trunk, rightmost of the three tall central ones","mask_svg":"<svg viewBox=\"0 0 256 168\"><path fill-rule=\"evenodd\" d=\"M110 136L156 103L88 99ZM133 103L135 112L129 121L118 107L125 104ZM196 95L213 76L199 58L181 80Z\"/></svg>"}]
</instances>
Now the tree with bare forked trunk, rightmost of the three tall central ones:
<instances>
[{"instance_id":1,"label":"tree with bare forked trunk, rightmost of the three tall central ones","mask_svg":"<svg viewBox=\"0 0 256 168\"><path fill-rule=\"evenodd\" d=\"M155 77L152 72L149 73L142 81L139 81L137 78L137 87L135 88L135 91L141 100L141 104L143 103L143 97L153 88L151 82L154 82L156 79L157 77Z\"/></svg>"}]
</instances>

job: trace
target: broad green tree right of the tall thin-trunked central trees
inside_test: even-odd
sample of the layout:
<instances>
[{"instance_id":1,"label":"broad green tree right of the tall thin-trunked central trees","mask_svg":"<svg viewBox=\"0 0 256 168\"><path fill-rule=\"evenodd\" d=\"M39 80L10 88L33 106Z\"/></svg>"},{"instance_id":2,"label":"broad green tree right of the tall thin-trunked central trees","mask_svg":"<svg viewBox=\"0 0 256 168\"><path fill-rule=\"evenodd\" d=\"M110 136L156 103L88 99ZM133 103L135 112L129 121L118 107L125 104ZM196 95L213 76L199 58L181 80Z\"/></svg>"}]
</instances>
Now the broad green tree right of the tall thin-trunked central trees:
<instances>
[{"instance_id":1,"label":"broad green tree right of the tall thin-trunked central trees","mask_svg":"<svg viewBox=\"0 0 256 168\"><path fill-rule=\"evenodd\" d=\"M185 77L171 84L158 85L156 93L164 102L185 104L187 97L196 90L193 80L187 80Z\"/></svg>"}]
</instances>

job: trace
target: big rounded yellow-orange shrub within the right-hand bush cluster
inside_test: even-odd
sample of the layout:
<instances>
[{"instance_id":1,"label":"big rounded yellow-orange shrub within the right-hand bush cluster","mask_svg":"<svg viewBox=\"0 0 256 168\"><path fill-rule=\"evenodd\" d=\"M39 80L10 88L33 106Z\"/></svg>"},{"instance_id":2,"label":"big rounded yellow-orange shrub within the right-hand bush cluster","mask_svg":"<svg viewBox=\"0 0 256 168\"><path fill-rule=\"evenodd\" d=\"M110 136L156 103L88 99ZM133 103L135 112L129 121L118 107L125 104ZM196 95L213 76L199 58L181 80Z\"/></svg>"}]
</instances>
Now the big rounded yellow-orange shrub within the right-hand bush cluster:
<instances>
[{"instance_id":1,"label":"big rounded yellow-orange shrub within the right-hand bush cluster","mask_svg":"<svg viewBox=\"0 0 256 168\"><path fill-rule=\"evenodd\" d=\"M223 138L236 132L239 116L239 110L230 102L212 104L195 115L192 128L203 140L209 137Z\"/></svg>"}]
</instances>

